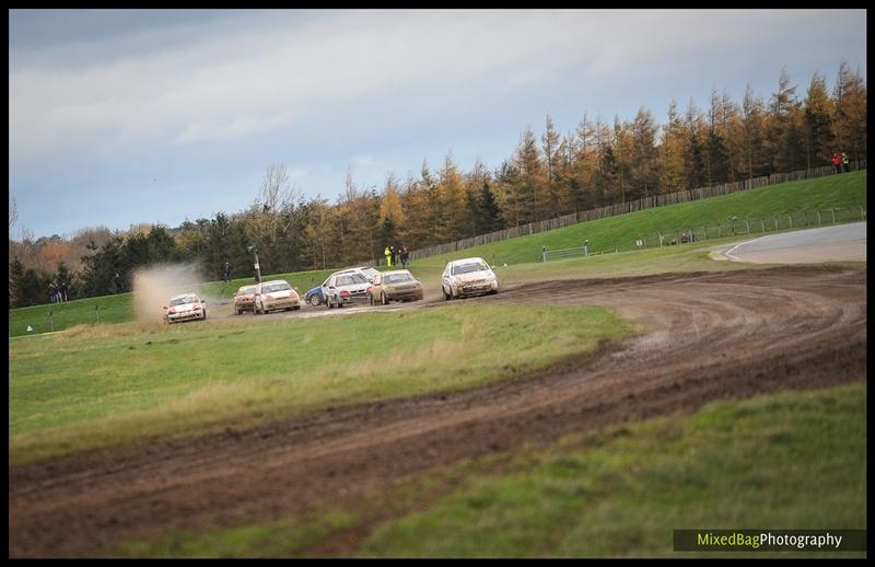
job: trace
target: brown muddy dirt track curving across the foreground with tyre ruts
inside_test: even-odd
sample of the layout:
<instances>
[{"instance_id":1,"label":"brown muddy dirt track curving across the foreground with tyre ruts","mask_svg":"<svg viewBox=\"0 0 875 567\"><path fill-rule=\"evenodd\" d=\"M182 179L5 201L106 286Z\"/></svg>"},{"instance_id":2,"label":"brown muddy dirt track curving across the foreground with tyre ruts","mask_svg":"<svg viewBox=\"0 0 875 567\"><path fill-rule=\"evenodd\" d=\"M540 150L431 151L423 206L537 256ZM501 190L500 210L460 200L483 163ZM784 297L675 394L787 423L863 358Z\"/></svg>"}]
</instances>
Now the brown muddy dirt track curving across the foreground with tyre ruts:
<instances>
[{"instance_id":1,"label":"brown muddy dirt track curving across the foreground with tyre ruts","mask_svg":"<svg viewBox=\"0 0 875 567\"><path fill-rule=\"evenodd\" d=\"M866 276L860 270L563 280L472 301L605 305L639 321L644 333L469 392L12 468L10 555L97 555L168 528L352 502L369 488L462 458L688 413L714 400L865 377Z\"/></svg>"}]
</instances>

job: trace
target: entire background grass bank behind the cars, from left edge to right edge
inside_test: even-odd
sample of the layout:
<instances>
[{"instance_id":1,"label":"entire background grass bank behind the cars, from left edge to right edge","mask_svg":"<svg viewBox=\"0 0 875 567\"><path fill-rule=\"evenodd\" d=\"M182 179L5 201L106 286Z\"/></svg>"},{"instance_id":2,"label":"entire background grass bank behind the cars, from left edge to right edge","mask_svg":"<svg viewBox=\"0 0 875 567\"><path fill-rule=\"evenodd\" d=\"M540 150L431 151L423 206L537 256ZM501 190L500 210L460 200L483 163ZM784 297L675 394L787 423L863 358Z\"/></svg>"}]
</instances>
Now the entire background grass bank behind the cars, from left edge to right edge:
<instances>
[{"instance_id":1,"label":"entire background grass bank behind the cars, from left edge to right edge","mask_svg":"<svg viewBox=\"0 0 875 567\"><path fill-rule=\"evenodd\" d=\"M724 222L732 216L738 218L763 217L785 213L792 210L815 210L866 205L866 172L860 171L844 175L833 175L804 182L785 183L736 193L722 197L658 207L619 217L574 224L564 229L521 236L503 242L466 248L453 254L422 258L411 265L411 271L423 282L435 288L440 273L451 259L467 256L481 256L490 263L502 266L535 263L542 245L551 250L580 246L584 239L590 240L592 250L607 250L626 246L639 235L658 230L699 227ZM709 241L709 244L711 242ZM648 251L654 252L654 251ZM630 256L638 257L638 256ZM648 256L651 257L651 256ZM655 257L655 256L653 256ZM596 261L600 258L590 258ZM610 262L610 261L608 261ZM600 264L594 262L596 266ZM540 269L530 266L518 274L535 273ZM722 267L720 269L726 269ZM278 274L265 278L288 280L303 296L310 288L320 284L332 270ZM508 270L504 275L513 280L517 271ZM499 274L502 276L501 271ZM200 286L199 291L210 298L230 298L241 286L252 284L249 278L229 284L213 281ZM75 325L93 324L96 321L94 306L100 306L102 323L121 323L133 317L130 293L71 301L60 304L35 305L14 309L9 312L9 333L11 337L27 335L27 325L33 333L48 333L48 314L52 312L54 329L60 331Z\"/></svg>"}]
</instances>

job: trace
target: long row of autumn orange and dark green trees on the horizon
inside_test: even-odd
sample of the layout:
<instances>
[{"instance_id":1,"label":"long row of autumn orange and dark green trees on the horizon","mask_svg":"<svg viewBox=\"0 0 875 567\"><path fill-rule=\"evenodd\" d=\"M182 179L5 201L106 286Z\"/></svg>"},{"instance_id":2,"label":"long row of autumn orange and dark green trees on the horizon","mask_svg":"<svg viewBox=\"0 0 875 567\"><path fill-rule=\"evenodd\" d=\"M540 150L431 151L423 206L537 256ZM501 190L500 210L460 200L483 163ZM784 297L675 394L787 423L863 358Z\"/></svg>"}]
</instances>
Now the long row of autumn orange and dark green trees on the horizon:
<instances>
[{"instance_id":1,"label":"long row of autumn orange and dark green trees on the horizon","mask_svg":"<svg viewBox=\"0 0 875 567\"><path fill-rule=\"evenodd\" d=\"M197 261L217 279L229 263L236 277L248 276L250 245L265 274L327 268L381 257L388 244L416 250L655 194L827 165L835 151L860 160L866 142L865 82L841 63L831 92L816 73L803 95L784 71L768 100L750 88L740 102L713 91L704 109L690 101L681 111L673 101L663 124L643 107L632 120L584 113L562 136L547 116L544 132L526 128L494 170L477 162L466 172L447 154L436 171L423 162L418 175L392 174L378 188L347 175L335 204L304 199L285 167L271 165L246 210L173 230L89 229L42 245L25 238L10 241L10 256L27 286L27 270L47 280L70 277L73 297L127 291L132 271L155 262ZM51 274L55 266L67 274ZM13 279L10 265L10 304ZM18 293L15 304L39 301L25 297Z\"/></svg>"}]
</instances>

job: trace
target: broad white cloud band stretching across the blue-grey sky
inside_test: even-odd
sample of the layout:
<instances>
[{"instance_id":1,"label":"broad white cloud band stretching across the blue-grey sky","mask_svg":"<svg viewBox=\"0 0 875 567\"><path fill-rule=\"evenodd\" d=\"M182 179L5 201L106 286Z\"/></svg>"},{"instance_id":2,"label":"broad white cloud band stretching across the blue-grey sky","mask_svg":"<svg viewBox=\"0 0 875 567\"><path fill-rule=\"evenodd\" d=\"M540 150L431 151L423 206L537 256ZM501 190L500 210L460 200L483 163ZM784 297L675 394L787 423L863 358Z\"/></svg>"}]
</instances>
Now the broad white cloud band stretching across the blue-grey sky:
<instances>
[{"instance_id":1,"label":"broad white cloud band stretching across the blue-grey sky","mask_svg":"<svg viewBox=\"0 0 875 567\"><path fill-rule=\"evenodd\" d=\"M399 100L429 113L485 93L504 96L575 79L609 88L633 73L670 78L690 57L745 48L773 32L775 21L788 34L796 33L789 22L822 16L609 10L296 15L247 18L242 30L228 21L206 23L197 33L180 27L190 40L140 32L136 50L92 65L58 67L52 48L20 62L11 56L12 162L71 148L241 138L308 118L329 120L338 109L366 114L369 105ZM149 37L151 50L144 48ZM112 54L119 45L118 38L95 40L89 50Z\"/></svg>"}]
</instances>

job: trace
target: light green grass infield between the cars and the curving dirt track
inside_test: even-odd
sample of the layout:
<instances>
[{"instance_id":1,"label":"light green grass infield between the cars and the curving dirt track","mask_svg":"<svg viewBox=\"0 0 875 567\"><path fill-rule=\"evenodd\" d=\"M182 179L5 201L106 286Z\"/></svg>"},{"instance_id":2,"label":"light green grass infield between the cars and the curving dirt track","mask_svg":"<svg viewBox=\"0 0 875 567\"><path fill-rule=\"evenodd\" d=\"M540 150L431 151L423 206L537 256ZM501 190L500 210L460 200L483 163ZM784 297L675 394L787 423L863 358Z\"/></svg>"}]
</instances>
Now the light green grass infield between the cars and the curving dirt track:
<instances>
[{"instance_id":1,"label":"light green grass infield between the cars and the curving dirt track","mask_svg":"<svg viewBox=\"0 0 875 567\"><path fill-rule=\"evenodd\" d=\"M10 462L466 389L632 332L595 308L441 310L115 325L9 348Z\"/></svg>"}]
</instances>

